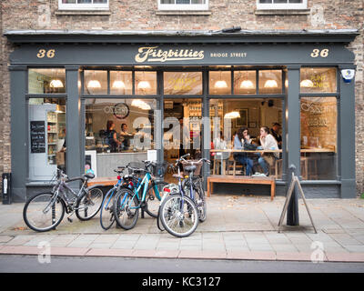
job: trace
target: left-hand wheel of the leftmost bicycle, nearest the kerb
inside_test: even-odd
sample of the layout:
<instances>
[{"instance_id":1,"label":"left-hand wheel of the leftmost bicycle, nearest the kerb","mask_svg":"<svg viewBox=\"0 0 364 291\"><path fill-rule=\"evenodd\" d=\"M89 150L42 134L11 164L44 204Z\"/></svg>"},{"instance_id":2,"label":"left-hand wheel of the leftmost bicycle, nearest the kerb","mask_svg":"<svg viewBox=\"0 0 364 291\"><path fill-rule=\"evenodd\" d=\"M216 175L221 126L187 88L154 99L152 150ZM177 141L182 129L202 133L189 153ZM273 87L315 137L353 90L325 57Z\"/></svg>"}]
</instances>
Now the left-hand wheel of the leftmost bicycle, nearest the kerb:
<instances>
[{"instance_id":1,"label":"left-hand wheel of the leftmost bicycle, nearest the kerb","mask_svg":"<svg viewBox=\"0 0 364 291\"><path fill-rule=\"evenodd\" d=\"M30 198L23 209L26 226L39 232L56 228L65 216L65 204L51 193L40 193Z\"/></svg>"}]
</instances>

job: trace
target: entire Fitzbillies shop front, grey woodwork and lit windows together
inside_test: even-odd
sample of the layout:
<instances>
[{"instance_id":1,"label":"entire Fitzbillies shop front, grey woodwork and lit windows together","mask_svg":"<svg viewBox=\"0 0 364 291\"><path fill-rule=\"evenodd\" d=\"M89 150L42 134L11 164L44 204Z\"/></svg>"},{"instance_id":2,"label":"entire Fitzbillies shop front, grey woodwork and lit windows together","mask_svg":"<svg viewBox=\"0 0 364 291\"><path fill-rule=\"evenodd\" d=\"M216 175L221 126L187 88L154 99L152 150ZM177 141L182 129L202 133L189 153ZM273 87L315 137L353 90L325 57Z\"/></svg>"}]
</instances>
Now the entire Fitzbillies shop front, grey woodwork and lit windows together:
<instances>
[{"instance_id":1,"label":"entire Fitzbillies shop front, grey woodwork and lit windows together","mask_svg":"<svg viewBox=\"0 0 364 291\"><path fill-rule=\"evenodd\" d=\"M49 186L56 168L110 177L185 153L211 159L204 176L275 176L278 195L294 165L308 196L356 196L355 81L343 74L355 69L346 45L357 31L5 35L16 45L15 201ZM265 126L277 148L241 162L236 137L261 146Z\"/></svg>"}]
</instances>

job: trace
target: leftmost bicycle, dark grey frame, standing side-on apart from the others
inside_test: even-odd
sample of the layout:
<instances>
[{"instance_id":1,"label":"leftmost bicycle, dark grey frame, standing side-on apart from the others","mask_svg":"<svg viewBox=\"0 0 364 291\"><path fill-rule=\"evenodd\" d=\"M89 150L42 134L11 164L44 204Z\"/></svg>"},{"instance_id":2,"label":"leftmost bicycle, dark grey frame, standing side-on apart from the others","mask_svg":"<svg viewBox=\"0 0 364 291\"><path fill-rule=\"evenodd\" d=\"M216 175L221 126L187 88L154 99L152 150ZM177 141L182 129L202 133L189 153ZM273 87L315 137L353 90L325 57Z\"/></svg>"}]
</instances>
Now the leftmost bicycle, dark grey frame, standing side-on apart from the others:
<instances>
[{"instance_id":1,"label":"leftmost bicycle, dark grey frame, standing side-on apart from the others","mask_svg":"<svg viewBox=\"0 0 364 291\"><path fill-rule=\"evenodd\" d=\"M38 232L56 229L65 212L68 221L76 213L80 220L89 220L96 216L104 198L104 192L99 185L87 187L88 179L93 174L86 174L69 179L62 170L57 169L51 181L56 180L52 191L39 193L26 201L23 209L23 218L26 226ZM76 193L68 183L80 180L82 186Z\"/></svg>"}]
</instances>

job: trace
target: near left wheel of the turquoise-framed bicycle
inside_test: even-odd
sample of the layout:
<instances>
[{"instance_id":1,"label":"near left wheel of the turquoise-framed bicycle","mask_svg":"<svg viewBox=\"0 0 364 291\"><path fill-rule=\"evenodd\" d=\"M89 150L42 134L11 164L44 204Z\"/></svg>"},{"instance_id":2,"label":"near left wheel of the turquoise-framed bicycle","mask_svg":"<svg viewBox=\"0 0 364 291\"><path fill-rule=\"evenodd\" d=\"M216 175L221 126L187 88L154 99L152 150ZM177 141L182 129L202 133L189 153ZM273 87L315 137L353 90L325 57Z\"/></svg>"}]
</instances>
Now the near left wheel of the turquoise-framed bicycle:
<instances>
[{"instance_id":1,"label":"near left wheel of the turquoise-framed bicycle","mask_svg":"<svg viewBox=\"0 0 364 291\"><path fill-rule=\"evenodd\" d=\"M133 192L127 188L117 191L114 199L114 216L118 226L131 229L136 226L139 216L139 201Z\"/></svg>"}]
</instances>

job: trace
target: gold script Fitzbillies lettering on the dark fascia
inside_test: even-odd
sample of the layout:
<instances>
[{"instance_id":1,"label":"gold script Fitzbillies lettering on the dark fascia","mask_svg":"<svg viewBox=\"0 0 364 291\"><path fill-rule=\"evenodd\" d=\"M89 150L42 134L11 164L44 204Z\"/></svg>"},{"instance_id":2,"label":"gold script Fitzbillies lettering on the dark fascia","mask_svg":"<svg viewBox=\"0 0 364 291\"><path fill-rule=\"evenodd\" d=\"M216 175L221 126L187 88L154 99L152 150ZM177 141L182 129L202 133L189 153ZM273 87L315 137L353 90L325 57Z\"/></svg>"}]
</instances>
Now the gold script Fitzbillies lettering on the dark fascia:
<instances>
[{"instance_id":1,"label":"gold script Fitzbillies lettering on the dark fascia","mask_svg":"<svg viewBox=\"0 0 364 291\"><path fill-rule=\"evenodd\" d=\"M201 60L205 57L204 51L193 49L163 50L158 49L158 46L139 47L137 52L135 57L137 63Z\"/></svg>"}]
</instances>

